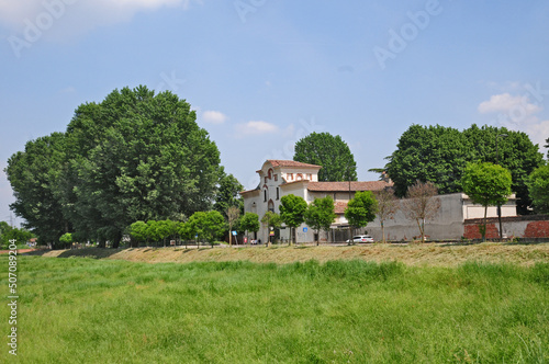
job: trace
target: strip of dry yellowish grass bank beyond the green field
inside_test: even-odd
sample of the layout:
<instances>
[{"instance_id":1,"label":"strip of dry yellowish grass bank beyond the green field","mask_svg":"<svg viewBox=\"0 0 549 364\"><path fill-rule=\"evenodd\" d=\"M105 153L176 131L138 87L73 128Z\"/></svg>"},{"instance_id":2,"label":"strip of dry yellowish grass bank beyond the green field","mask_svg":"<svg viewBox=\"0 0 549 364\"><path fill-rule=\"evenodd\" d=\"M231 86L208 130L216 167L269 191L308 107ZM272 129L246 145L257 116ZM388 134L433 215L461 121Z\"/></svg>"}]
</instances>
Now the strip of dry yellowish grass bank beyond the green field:
<instances>
[{"instance_id":1,"label":"strip of dry yellowish grass bank beyond the green field","mask_svg":"<svg viewBox=\"0 0 549 364\"><path fill-rule=\"evenodd\" d=\"M35 252L29 254L36 254ZM257 263L291 263L315 259L328 260L400 261L408 265L453 266L466 261L514 263L533 265L549 262L549 243L539 244L365 244L344 247L249 247L249 248L131 248L131 249L76 249L42 252L43 257L87 257L117 259L133 262L210 262L250 261Z\"/></svg>"}]
</instances>

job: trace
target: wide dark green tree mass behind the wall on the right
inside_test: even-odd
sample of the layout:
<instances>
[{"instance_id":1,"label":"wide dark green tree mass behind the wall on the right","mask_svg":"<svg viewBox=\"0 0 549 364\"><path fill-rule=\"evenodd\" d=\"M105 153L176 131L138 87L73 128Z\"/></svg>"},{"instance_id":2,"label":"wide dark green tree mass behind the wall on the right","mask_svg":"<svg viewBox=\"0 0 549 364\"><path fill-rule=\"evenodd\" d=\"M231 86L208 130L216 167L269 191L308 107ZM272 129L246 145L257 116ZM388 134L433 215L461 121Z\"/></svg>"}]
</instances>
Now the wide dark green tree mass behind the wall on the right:
<instances>
[{"instance_id":1,"label":"wide dark green tree mass behind the wall on the right","mask_svg":"<svg viewBox=\"0 0 549 364\"><path fill-rule=\"evenodd\" d=\"M477 125L463 132L440 125L412 125L388 159L385 170L399 196L404 196L417 180L435 183L441 194L462 192L461 177L469 162L497 161L512 171L512 189L523 214L531 203L526 181L542 163L542 155L525 133Z\"/></svg>"}]
</instances>

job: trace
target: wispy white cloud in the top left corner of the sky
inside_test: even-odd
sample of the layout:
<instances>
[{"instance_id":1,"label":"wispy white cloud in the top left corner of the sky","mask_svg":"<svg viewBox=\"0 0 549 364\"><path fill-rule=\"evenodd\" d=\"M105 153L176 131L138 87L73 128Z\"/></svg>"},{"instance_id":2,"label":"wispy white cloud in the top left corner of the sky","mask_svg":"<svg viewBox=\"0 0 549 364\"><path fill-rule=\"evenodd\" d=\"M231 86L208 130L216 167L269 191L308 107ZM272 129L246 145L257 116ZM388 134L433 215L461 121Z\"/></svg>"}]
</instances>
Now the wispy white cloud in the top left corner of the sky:
<instances>
[{"instance_id":1,"label":"wispy white cloud in the top left corner of the sky","mask_svg":"<svg viewBox=\"0 0 549 364\"><path fill-rule=\"evenodd\" d=\"M0 0L0 26L16 36L35 34L29 31L34 27L47 33L46 38L66 39L96 26L128 21L141 11L188 10L192 3L202 0Z\"/></svg>"}]
</instances>

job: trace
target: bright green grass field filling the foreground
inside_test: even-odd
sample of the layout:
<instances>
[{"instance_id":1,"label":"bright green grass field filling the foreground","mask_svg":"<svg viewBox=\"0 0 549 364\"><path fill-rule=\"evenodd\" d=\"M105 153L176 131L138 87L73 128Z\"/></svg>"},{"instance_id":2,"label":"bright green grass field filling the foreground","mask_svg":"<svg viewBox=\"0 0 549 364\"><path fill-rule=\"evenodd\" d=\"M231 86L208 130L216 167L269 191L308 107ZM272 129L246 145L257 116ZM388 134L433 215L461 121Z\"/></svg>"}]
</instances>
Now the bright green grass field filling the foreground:
<instances>
[{"instance_id":1,"label":"bright green grass field filling the foreground","mask_svg":"<svg viewBox=\"0 0 549 364\"><path fill-rule=\"evenodd\" d=\"M21 363L549 360L549 264L19 259Z\"/></svg>"}]
</instances>

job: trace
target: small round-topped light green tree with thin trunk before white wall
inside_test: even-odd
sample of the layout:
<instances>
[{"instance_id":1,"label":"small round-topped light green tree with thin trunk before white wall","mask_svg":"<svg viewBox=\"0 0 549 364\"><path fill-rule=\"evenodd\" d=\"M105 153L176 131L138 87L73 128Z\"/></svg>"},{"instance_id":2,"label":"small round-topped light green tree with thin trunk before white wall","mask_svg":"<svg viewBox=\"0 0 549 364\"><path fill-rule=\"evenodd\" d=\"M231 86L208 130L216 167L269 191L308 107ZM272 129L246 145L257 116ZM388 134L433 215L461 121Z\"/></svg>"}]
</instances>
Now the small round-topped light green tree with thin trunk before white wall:
<instances>
[{"instance_id":1,"label":"small round-topped light green tree with thin trunk before white wall","mask_svg":"<svg viewBox=\"0 0 549 364\"><path fill-rule=\"evenodd\" d=\"M475 204L484 206L484 224L481 228L482 240L486 239L488 206L502 205L511 195L511 172L490 162L477 162L467 166L461 181L463 192Z\"/></svg>"}]
</instances>

